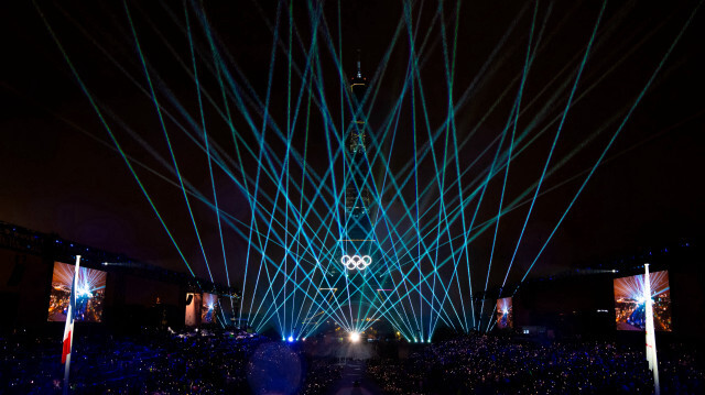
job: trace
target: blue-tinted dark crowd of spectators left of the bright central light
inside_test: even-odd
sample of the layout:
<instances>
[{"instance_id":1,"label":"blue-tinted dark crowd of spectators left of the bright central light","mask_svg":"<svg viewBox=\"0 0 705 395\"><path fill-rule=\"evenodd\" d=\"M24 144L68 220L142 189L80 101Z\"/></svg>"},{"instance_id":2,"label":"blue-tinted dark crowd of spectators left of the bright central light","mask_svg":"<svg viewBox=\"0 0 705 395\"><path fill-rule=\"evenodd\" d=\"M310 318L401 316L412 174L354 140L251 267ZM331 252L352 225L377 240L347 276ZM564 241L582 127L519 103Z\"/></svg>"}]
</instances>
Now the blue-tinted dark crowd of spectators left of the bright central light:
<instances>
[{"instance_id":1,"label":"blue-tinted dark crowd of spectators left of the bright central light","mask_svg":"<svg viewBox=\"0 0 705 395\"><path fill-rule=\"evenodd\" d=\"M62 392L61 339L13 334L0 350L0 394ZM72 394L318 395L339 377L340 366L258 334L145 330L76 336L69 378Z\"/></svg>"}]
</instances>

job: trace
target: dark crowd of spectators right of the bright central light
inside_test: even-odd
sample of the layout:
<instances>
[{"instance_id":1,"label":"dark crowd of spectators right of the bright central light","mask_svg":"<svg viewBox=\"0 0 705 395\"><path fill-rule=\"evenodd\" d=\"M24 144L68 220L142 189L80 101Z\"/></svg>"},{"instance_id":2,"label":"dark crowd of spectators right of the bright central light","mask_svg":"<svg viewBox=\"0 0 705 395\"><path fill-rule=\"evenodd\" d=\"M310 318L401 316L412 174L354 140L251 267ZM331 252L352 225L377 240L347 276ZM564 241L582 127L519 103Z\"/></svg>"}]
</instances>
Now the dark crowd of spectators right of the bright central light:
<instances>
[{"instance_id":1,"label":"dark crowd of spectators right of the bright central light","mask_svg":"<svg viewBox=\"0 0 705 395\"><path fill-rule=\"evenodd\" d=\"M683 347L659 352L662 394L705 393L702 359ZM541 343L463 336L405 360L369 361L387 394L651 394L644 350L606 342Z\"/></svg>"}]
</instances>

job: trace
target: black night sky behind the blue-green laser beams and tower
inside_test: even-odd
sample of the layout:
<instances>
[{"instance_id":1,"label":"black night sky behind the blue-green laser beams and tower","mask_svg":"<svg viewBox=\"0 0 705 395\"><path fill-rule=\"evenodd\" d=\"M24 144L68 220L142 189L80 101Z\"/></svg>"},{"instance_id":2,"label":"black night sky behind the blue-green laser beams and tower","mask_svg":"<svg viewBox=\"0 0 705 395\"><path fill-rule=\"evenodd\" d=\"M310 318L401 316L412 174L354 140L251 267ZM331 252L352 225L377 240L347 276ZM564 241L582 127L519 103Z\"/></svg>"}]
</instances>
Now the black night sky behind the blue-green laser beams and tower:
<instances>
[{"instance_id":1,"label":"black night sky behind the blue-green laser beams and tower","mask_svg":"<svg viewBox=\"0 0 705 395\"><path fill-rule=\"evenodd\" d=\"M161 116L165 119L169 143L162 131L160 113L149 96L150 87L124 7L120 2L39 3L124 154L140 162L133 163L134 172L184 257L198 276L206 277L208 274L198 239L169 151L171 144L181 175L189 183L189 188L212 201L213 186L207 156L202 149L202 120L191 75L193 61L181 2L172 2L170 8L129 2L158 100L164 106ZM257 97L263 102L268 86L271 86L268 114L285 134L290 86L289 55L285 52L290 29L286 7L280 14L280 42L271 85L268 85L275 3L204 3L204 14L219 55L238 92L246 100ZM413 69L413 63L410 62L410 30L403 23L404 8L401 2L379 3L343 1L343 21L339 24L336 2L325 2L316 34L317 51L312 57L319 68L315 72L317 79L313 85L315 99L311 103L308 133L304 127L308 100L305 90L292 136L293 151L303 156L306 150L311 173L322 176L328 168L330 158L325 143L322 96L325 97L332 124L340 125L339 75L329 45L343 54L346 78L355 72L356 53L360 48L364 70L371 81L370 91L377 92L373 97L370 94L365 105L375 140L372 146L389 161L389 171L382 160L372 161L378 186L384 179L389 183L390 177L401 180L410 174L404 166L413 164L415 128L417 152L429 154L416 166L420 185L440 179L436 166L438 171L443 167L444 152L453 158L446 167L445 183L457 182L453 149L457 144L460 147L457 163L462 172L478 160L459 177L462 187L469 193L474 190L473 185L477 185L474 183L486 177L484 171L491 167L497 151L497 144L491 143L502 134L511 119L531 36L531 51L535 56L527 75L516 131L517 139L522 133L525 136L513 146L523 151L510 163L503 200L505 172L498 173L489 183L476 220L476 224L484 223L497 215L500 200L506 207L539 179L600 12L600 2L563 4L566 2L541 1L535 9L535 3L519 8L508 1L463 2L460 13L456 14L455 2L451 1L444 3L443 18L436 2L415 2L411 8L411 33L420 72L412 77L408 74ZM550 167L565 163L547 176L541 187L546 193L535 204L510 281L520 279L529 268L583 184L587 175L585 172L595 165L697 7L693 1L666 3L655 7L638 1L610 1L607 4L573 99L574 107L567 113ZM199 84L209 95L204 95L202 100L205 102L206 130L212 139L210 150L223 150L224 166L231 172L227 174L215 162L212 163L219 207L231 216L234 223L242 221L235 227L245 232L238 233L223 224L226 228L225 255L229 272L237 282L242 278L247 256L247 238L242 234L247 234L251 210L246 195L230 177L239 177L238 182L243 175L252 177L249 186L253 187L257 152L254 155L245 151L240 155L236 153L232 131L224 121L227 116L220 106L223 97L218 72L213 67L213 53L203 21L194 7L188 6L187 9ZM311 48L312 14L317 9L310 10L304 1L299 1L292 10L296 34L292 40L291 100L295 109L302 86L300 73L306 69L306 55ZM530 35L534 10L534 31ZM704 12L701 9L695 13L607 151L603 164L542 253L532 275L703 237ZM37 9L29 2L3 2L0 15L4 30L0 78L0 220L43 232L56 232L65 239L185 271L178 252L82 91ZM456 21L454 101L459 101L466 90L470 90L456 112L457 143L441 128L441 138L429 145L426 124L435 132L448 113L449 76L444 62L441 24L445 24L445 45L452 53ZM341 37L338 36L338 28ZM409 84L409 80L414 83ZM227 86L227 81L225 84ZM401 109L394 112L394 105L402 92ZM219 109L208 100L214 100ZM237 100L230 96L228 102L235 133L241 138L238 140L240 150L246 146L257 150L258 140L238 109ZM249 101L245 106L253 123L261 129L261 102ZM349 111L345 111L349 120ZM167 112L174 118L170 119ZM290 112L292 118L293 112ZM397 134L392 136L394 124ZM384 133L387 128L390 131ZM337 132L328 130L327 133ZM502 152L510 146L511 133L510 125ZM285 144L271 125L264 140L269 149L262 160L282 161ZM446 141L449 144L447 150L444 149ZM480 156L487 147L489 151ZM432 158L433 153L437 155L436 160ZM339 164L339 157L336 161ZM499 168L503 169L501 166L505 164L506 157L503 164L498 164ZM301 177L300 167L292 164L290 184L300 185ZM334 184L330 179L326 183L328 187ZM276 184L262 175L260 191L274 197ZM451 208L457 207L457 200L453 200L457 185L452 185L453 189L443 194ZM306 182L304 195L307 199L311 199L314 187L312 182ZM302 201L301 194L293 187L289 196L296 205ZM437 187L432 187L420 197L420 210L429 210L430 218L436 218L440 196ZM533 190L530 190L527 198L532 196ZM399 198L406 207L400 204ZM217 282L224 282L224 254L216 216L194 196L189 199L214 276ZM325 205L335 204L335 199L326 199L313 202L304 199L302 206L311 204L321 210ZM262 201L265 211L267 208L273 210L274 206L284 207L281 200L276 205L264 202L263 198ZM382 194L381 201L388 207L392 221L399 220L400 229L408 227L405 221L410 218L405 211L413 210L416 205L413 183L402 187L399 194L395 190ZM465 208L467 221L471 219L476 205L477 199L474 199ZM528 209L529 205L520 206L500 220L491 283L501 282L505 276ZM276 218L284 220L284 217L279 213ZM267 221L262 218L258 221L260 231L265 232ZM322 220L311 217L310 221L312 227L318 227ZM460 227L458 220L447 229L457 235ZM276 227L272 229L276 232ZM494 233L495 227L490 226L470 244L471 267L479 276L477 286L484 285ZM427 245L432 246L437 239L434 234L435 231L426 235ZM273 251L271 245L269 249ZM447 253L443 248L440 251Z\"/></svg>"}]
</instances>

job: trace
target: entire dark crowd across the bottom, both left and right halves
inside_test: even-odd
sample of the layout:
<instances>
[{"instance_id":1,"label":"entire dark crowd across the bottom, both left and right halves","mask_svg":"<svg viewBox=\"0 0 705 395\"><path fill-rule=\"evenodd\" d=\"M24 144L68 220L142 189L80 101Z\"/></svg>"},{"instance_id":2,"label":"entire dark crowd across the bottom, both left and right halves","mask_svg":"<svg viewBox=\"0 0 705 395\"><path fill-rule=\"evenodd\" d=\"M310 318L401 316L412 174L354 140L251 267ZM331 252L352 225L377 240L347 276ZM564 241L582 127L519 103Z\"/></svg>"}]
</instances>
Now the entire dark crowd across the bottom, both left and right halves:
<instances>
[{"instance_id":1,"label":"entire dark crowd across the bottom, both left and right halves","mask_svg":"<svg viewBox=\"0 0 705 395\"><path fill-rule=\"evenodd\" d=\"M314 350L336 347L234 330L77 336L70 393L323 395L340 383L343 367L335 354ZM61 351L56 337L0 338L0 394L61 393ZM705 393L703 355L694 349L661 347L659 367L662 394ZM653 393L643 348L596 341L466 334L416 344L404 359L375 356L367 374L386 394Z\"/></svg>"}]
</instances>

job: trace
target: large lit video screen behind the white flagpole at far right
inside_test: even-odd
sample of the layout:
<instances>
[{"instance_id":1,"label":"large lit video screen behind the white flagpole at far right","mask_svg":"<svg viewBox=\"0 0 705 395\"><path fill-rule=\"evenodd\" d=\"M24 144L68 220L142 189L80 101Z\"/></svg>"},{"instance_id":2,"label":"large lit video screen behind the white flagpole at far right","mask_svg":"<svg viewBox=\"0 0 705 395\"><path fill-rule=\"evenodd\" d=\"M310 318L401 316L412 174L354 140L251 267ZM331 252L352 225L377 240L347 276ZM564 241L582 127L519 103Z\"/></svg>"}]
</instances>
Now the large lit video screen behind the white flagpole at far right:
<instances>
[{"instance_id":1,"label":"large lit video screen behind the white flagpole at far right","mask_svg":"<svg viewBox=\"0 0 705 395\"><path fill-rule=\"evenodd\" d=\"M615 311L617 330L646 330L647 298L644 297L644 275L615 278ZM655 330L671 331L671 293L669 272L649 274L651 299L653 300L653 327Z\"/></svg>"}]
</instances>

